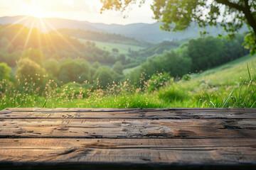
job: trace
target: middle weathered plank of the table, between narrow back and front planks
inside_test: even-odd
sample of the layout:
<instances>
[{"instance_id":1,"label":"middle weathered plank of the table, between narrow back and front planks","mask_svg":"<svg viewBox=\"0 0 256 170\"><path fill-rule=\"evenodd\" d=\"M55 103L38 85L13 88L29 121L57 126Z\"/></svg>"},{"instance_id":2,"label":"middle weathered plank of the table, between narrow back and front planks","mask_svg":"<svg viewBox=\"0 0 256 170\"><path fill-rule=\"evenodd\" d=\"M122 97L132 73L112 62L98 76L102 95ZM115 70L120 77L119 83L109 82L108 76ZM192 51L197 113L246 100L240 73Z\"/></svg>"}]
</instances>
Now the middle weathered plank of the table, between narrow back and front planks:
<instances>
[{"instance_id":1,"label":"middle weathered plank of the table, between narrow back and front planks","mask_svg":"<svg viewBox=\"0 0 256 170\"><path fill-rule=\"evenodd\" d=\"M256 120L1 119L0 137L256 137Z\"/></svg>"}]
</instances>

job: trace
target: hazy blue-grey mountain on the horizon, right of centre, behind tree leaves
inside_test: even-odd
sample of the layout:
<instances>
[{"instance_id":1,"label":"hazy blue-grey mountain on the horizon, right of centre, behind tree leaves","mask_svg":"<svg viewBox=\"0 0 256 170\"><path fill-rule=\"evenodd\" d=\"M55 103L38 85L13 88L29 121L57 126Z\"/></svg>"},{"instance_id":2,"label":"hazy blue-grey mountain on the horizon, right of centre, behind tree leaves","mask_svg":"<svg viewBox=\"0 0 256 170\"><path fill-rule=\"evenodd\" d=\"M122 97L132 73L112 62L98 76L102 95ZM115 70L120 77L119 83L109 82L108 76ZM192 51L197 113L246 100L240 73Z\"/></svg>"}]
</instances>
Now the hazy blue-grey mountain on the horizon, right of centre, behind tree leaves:
<instances>
[{"instance_id":1,"label":"hazy blue-grey mountain on the horizon, right of centre, behind tree leaves","mask_svg":"<svg viewBox=\"0 0 256 170\"><path fill-rule=\"evenodd\" d=\"M98 29L105 30L109 33L117 33L130 38L136 38L139 40L162 42L173 40L184 40L191 38L198 38L199 32L204 30L199 28L196 23L191 23L191 26L184 31L179 32L166 32L160 29L161 23L134 23L127 26L121 26L117 24L103 24L103 23L91 23L92 26ZM217 36L223 34L223 28L221 27L206 27L205 29L210 35ZM245 32L247 26L242 27L240 33Z\"/></svg>"}]
</instances>

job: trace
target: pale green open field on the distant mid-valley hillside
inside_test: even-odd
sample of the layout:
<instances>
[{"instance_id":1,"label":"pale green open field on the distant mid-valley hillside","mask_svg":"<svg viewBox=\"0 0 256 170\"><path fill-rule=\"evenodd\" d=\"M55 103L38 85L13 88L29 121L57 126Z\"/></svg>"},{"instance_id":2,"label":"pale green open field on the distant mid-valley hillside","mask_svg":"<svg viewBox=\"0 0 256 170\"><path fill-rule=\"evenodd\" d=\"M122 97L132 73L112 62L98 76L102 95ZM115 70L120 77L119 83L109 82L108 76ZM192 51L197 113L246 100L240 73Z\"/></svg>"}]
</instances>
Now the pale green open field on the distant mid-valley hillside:
<instances>
[{"instance_id":1,"label":"pale green open field on the distant mid-valley hillside","mask_svg":"<svg viewBox=\"0 0 256 170\"><path fill-rule=\"evenodd\" d=\"M80 42L87 42L88 40L85 39L78 39ZM90 40L90 42L95 42L96 47L106 50L108 52L112 52L113 48L117 48L119 50L119 54L128 54L129 48L134 51L142 50L144 47L139 47L137 45L131 45L131 44L124 44L124 42L101 42L101 41L95 41Z\"/></svg>"}]
</instances>

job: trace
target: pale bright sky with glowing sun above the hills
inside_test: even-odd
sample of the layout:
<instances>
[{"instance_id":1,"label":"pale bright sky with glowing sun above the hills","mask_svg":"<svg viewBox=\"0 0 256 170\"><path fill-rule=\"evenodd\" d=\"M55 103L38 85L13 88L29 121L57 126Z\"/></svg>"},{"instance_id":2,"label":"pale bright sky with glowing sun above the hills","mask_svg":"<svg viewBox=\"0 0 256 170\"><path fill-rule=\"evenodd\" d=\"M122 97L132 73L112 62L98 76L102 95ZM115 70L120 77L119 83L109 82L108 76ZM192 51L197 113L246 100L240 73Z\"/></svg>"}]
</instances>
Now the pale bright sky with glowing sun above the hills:
<instances>
[{"instance_id":1,"label":"pale bright sky with glowing sun above the hills","mask_svg":"<svg viewBox=\"0 0 256 170\"><path fill-rule=\"evenodd\" d=\"M128 17L120 11L103 11L100 0L0 0L1 16L36 16L40 18L67 18L91 23L155 23L150 8L151 0L139 8L133 5Z\"/></svg>"}]
</instances>

